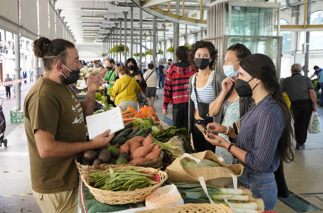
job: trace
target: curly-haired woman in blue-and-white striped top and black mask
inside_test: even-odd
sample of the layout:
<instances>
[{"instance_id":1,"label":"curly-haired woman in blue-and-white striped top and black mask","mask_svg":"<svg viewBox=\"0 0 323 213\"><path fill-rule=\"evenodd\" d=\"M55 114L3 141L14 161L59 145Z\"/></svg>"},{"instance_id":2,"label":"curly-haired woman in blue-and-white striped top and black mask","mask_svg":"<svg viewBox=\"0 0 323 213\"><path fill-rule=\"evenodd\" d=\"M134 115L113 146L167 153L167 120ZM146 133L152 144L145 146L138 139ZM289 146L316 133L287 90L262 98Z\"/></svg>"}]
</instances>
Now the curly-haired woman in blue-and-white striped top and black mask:
<instances>
[{"instance_id":1,"label":"curly-haired woman in blue-and-white striped top and black mask","mask_svg":"<svg viewBox=\"0 0 323 213\"><path fill-rule=\"evenodd\" d=\"M195 124L208 125L217 122L218 117L209 116L209 104L221 90L221 82L225 78L221 73L214 71L215 61L218 60L218 50L211 42L198 41L192 44L188 51L188 61L194 65L198 73L191 76L189 81L189 134L192 133L194 149L197 152L211 150L215 146L208 143Z\"/></svg>"}]
</instances>

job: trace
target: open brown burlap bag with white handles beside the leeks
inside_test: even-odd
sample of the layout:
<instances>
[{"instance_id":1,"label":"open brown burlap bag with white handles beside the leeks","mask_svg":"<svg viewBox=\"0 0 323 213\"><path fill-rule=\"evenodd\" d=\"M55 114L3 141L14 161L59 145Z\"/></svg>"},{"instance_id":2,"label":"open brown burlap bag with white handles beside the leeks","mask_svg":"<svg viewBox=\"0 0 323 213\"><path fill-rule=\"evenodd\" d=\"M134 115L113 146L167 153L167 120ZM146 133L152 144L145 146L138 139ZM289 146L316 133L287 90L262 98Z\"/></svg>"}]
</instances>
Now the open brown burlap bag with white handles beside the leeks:
<instances>
[{"instance_id":1,"label":"open brown burlap bag with white handles beside the leeks","mask_svg":"<svg viewBox=\"0 0 323 213\"><path fill-rule=\"evenodd\" d=\"M231 180L232 176L230 173L234 174L236 177L241 176L243 171L242 164L234 164L226 166L224 161L220 162L218 160L219 156L214 154L211 151L204 151L200 153L192 154L193 157L196 157L200 160L208 159L213 162L217 162L221 167L204 167L204 168L186 168L182 167L180 161L183 158L186 158L190 161L192 159L188 157L176 158L171 165L166 168L168 175L167 182L169 183L181 183L181 182L196 182L199 183L199 177L203 176L206 184L210 184L216 187L227 187Z\"/></svg>"}]
</instances>

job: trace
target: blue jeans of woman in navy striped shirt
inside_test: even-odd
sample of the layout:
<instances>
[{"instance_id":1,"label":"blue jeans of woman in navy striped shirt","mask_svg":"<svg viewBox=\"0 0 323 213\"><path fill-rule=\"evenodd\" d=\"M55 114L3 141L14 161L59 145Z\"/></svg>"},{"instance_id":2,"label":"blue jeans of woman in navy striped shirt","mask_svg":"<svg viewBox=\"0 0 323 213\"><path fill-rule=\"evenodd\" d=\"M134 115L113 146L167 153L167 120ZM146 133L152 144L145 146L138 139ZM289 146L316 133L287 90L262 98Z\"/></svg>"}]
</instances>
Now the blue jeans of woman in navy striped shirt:
<instances>
[{"instance_id":1,"label":"blue jeans of woman in navy striped shirt","mask_svg":"<svg viewBox=\"0 0 323 213\"><path fill-rule=\"evenodd\" d=\"M233 158L233 164L242 162L239 159ZM273 172L256 172L251 171L244 166L242 175L237 177L238 185L246 189L250 189L256 198L264 200L265 211L270 211L276 205L277 201L277 184Z\"/></svg>"}]
</instances>

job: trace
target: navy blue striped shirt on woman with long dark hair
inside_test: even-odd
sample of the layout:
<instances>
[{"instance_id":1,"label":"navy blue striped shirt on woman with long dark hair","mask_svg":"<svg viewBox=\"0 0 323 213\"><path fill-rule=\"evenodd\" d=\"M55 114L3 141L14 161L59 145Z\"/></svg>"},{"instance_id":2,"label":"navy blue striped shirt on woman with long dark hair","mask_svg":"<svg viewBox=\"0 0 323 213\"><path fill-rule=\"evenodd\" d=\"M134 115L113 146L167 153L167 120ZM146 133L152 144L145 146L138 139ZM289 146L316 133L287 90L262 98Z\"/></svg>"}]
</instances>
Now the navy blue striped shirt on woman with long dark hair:
<instances>
[{"instance_id":1,"label":"navy blue striped shirt on woman with long dark hair","mask_svg":"<svg viewBox=\"0 0 323 213\"><path fill-rule=\"evenodd\" d=\"M284 130L285 115L272 97L251 106L240 121L235 146L247 151L245 165L252 171L274 172L279 166L277 144Z\"/></svg>"}]
</instances>

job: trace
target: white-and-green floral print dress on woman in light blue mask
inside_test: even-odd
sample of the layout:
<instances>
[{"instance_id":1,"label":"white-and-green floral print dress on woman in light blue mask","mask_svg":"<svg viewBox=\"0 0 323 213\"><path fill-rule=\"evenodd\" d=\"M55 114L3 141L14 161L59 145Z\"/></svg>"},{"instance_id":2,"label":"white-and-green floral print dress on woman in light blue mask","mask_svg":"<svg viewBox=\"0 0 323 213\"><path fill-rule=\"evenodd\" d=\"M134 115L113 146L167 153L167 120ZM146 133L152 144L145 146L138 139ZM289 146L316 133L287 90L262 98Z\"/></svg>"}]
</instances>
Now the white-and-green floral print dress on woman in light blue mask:
<instances>
[{"instance_id":1,"label":"white-and-green floral print dress on woman in light blue mask","mask_svg":"<svg viewBox=\"0 0 323 213\"><path fill-rule=\"evenodd\" d=\"M231 126L233 125L234 122L238 122L240 119L240 104L239 104L239 100L231 103L229 105L229 107L227 105L223 106L223 110L222 110L222 115L223 115L223 120L221 125L224 126ZM225 134L218 134L220 137L223 137L227 142L230 143L229 141L229 137L226 136ZM215 154L218 156L222 156L222 158L224 159L225 164L231 165L232 164L232 154L228 152L227 149L217 146L215 148Z\"/></svg>"}]
</instances>

